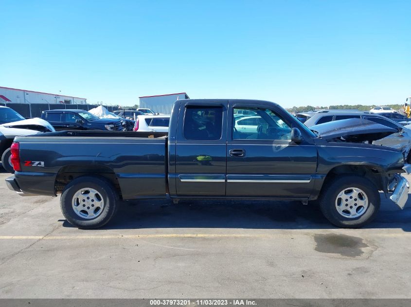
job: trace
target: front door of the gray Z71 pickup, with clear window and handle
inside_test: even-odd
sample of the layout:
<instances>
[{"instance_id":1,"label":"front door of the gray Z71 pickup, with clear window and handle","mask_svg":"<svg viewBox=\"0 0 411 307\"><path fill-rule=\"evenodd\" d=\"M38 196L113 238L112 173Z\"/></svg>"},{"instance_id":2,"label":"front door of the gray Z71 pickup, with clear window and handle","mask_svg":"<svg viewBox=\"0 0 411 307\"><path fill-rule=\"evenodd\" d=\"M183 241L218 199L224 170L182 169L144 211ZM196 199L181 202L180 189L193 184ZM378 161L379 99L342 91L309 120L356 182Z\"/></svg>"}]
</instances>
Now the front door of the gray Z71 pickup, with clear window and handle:
<instances>
[{"instance_id":1,"label":"front door of the gray Z71 pickup, with clear window and handle","mask_svg":"<svg viewBox=\"0 0 411 307\"><path fill-rule=\"evenodd\" d=\"M245 112L252 114L250 123L258 118L257 127L250 125L249 129L241 129L244 125L238 125L238 122L244 124L247 117L238 120L234 114ZM311 194L317 168L316 146L311 139L301 144L292 143L293 122L281 114L284 111L275 104L234 102L230 106L227 196L286 198Z\"/></svg>"}]
</instances>

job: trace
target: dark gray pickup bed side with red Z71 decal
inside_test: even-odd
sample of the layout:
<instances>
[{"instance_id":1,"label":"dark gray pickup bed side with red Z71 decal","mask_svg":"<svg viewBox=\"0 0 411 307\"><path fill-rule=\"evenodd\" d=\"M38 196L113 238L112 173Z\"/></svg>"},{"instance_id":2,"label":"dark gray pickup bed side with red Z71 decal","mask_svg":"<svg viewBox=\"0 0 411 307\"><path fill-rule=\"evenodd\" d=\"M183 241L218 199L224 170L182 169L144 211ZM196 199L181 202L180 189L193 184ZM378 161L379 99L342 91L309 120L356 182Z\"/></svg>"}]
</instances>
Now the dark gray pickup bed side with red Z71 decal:
<instances>
[{"instance_id":1,"label":"dark gray pickup bed side with red Z71 decal","mask_svg":"<svg viewBox=\"0 0 411 307\"><path fill-rule=\"evenodd\" d=\"M20 158L44 166L27 173L22 166L19 185L27 194L55 196L72 178L92 173L117 182L125 200L164 197L166 134L59 131L31 137L20 144Z\"/></svg>"}]
</instances>

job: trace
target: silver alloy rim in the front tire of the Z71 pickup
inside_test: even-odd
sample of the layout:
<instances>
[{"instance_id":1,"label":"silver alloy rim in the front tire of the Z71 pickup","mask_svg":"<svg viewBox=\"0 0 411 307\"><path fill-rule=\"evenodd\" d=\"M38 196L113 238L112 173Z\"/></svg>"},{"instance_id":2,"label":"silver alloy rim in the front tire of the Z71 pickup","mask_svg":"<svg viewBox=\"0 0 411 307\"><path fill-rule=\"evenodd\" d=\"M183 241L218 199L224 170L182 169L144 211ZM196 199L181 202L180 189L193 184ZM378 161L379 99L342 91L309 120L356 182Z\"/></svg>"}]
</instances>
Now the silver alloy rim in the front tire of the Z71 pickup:
<instances>
[{"instance_id":1,"label":"silver alloy rim in the front tire of the Z71 pickup","mask_svg":"<svg viewBox=\"0 0 411 307\"><path fill-rule=\"evenodd\" d=\"M343 217L357 218L368 208L367 194L358 188L346 188L338 194L336 208Z\"/></svg>"}]
</instances>

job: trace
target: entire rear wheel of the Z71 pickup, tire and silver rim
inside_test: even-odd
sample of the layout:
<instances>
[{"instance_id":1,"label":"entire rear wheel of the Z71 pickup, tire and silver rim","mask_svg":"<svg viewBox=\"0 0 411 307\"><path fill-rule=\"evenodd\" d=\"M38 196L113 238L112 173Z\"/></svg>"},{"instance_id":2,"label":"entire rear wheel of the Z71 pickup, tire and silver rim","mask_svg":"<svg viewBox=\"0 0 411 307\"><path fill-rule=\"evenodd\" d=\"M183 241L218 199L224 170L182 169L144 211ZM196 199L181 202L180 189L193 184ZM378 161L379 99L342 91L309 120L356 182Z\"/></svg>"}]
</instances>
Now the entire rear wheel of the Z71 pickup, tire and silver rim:
<instances>
[{"instance_id":1,"label":"entire rear wheel of the Z71 pickup, tire and silver rim","mask_svg":"<svg viewBox=\"0 0 411 307\"><path fill-rule=\"evenodd\" d=\"M106 225L117 210L118 194L109 181L82 176L71 181L61 194L60 207L73 226L82 229Z\"/></svg>"}]
</instances>

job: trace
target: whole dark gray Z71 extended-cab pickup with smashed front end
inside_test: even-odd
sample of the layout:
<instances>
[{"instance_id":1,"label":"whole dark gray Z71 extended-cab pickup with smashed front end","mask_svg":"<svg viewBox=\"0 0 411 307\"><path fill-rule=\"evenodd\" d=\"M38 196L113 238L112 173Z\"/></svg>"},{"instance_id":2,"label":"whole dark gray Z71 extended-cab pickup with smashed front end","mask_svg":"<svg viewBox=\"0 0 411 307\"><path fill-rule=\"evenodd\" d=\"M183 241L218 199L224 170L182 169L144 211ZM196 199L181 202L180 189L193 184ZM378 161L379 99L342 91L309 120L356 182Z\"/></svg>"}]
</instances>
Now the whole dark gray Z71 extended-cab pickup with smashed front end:
<instances>
[{"instance_id":1,"label":"whole dark gray Z71 extended-cab pickup with smashed front end","mask_svg":"<svg viewBox=\"0 0 411 307\"><path fill-rule=\"evenodd\" d=\"M378 137L393 133L371 124ZM347 133L332 128L324 138L268 101L178 100L168 135L59 131L17 137L16 173L6 182L22 195L61 193L64 216L80 228L105 225L119 199L160 197L318 199L332 224L360 227L379 209L378 191L404 207L409 184L400 174L410 173L411 165L398 150Z\"/></svg>"}]
</instances>

